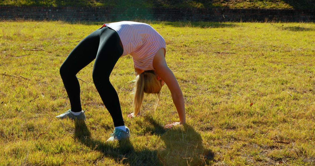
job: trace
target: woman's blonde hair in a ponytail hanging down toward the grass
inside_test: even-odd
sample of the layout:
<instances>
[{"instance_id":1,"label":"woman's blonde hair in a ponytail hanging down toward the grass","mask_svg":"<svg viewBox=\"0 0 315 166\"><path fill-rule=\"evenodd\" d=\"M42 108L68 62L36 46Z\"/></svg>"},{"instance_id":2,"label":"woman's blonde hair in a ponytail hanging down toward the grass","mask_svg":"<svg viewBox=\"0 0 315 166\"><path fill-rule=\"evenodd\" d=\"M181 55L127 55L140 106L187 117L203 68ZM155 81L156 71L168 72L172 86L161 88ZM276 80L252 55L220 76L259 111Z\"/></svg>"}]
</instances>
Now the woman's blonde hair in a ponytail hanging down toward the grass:
<instances>
[{"instance_id":1,"label":"woman's blonde hair in a ponytail hanging down toward the grass","mask_svg":"<svg viewBox=\"0 0 315 166\"><path fill-rule=\"evenodd\" d=\"M136 77L134 89L135 96L133 101L135 107L134 116L137 116L140 113L144 93L155 94L156 99L153 111L156 110L160 100L161 88L161 80L157 80L157 77L152 70L145 71Z\"/></svg>"}]
</instances>

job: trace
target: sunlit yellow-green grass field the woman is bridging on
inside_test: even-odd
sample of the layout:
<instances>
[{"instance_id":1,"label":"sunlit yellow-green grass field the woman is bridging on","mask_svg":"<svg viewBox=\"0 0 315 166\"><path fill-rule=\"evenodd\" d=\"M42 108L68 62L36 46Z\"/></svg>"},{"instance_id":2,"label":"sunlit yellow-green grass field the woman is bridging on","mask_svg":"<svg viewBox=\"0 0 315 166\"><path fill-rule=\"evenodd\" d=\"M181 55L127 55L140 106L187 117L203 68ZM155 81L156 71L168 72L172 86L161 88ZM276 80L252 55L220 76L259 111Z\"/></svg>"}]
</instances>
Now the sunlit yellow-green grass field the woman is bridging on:
<instances>
[{"instance_id":1,"label":"sunlit yellow-green grass field the woman is bridging on","mask_svg":"<svg viewBox=\"0 0 315 166\"><path fill-rule=\"evenodd\" d=\"M0 165L314 165L315 24L146 22L166 41L187 125L167 86L153 113L132 112L130 56L110 80L130 140L107 143L112 119L81 70L85 123L55 119L70 108L59 68L103 23L0 22Z\"/></svg>"}]
</instances>

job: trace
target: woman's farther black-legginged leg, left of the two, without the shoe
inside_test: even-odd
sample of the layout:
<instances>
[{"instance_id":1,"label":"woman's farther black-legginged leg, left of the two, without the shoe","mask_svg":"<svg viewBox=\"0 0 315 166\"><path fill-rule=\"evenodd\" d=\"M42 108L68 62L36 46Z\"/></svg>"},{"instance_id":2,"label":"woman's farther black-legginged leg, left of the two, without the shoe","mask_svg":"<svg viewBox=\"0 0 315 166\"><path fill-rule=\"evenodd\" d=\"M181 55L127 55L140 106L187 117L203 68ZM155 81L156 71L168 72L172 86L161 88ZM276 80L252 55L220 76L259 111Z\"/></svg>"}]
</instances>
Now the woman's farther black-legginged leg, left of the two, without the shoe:
<instances>
[{"instance_id":1,"label":"woman's farther black-legginged leg, left of the two, without the shoe","mask_svg":"<svg viewBox=\"0 0 315 166\"><path fill-rule=\"evenodd\" d=\"M91 63L98 51L100 30L85 37L69 54L60 67L60 76L69 96L71 111L80 112L80 85L76 74Z\"/></svg>"}]
</instances>

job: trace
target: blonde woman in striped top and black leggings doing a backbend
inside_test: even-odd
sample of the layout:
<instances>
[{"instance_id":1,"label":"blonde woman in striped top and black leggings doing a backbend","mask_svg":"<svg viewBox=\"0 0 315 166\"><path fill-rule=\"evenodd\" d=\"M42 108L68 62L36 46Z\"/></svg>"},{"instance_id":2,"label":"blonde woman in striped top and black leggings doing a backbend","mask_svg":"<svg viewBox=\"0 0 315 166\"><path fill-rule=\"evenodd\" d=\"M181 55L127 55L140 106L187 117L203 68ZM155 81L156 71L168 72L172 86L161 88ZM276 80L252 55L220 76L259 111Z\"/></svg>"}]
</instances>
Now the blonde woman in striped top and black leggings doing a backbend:
<instances>
[{"instance_id":1,"label":"blonde woman in striped top and black leggings doing a backbend","mask_svg":"<svg viewBox=\"0 0 315 166\"><path fill-rule=\"evenodd\" d=\"M85 37L72 50L60 67L60 75L69 96L71 109L56 118L85 120L76 74L95 59L93 81L105 107L112 116L115 127L107 141L130 137L130 131L123 122L117 92L109 81L109 76L118 59L128 54L133 58L135 72L138 75L134 92L135 111L128 114L128 117L140 115L144 92L156 94L156 108L160 90L165 82L172 94L180 118L180 122L167 124L165 127L185 124L183 94L173 72L166 64L163 37L150 25L132 21L104 24Z\"/></svg>"}]
</instances>

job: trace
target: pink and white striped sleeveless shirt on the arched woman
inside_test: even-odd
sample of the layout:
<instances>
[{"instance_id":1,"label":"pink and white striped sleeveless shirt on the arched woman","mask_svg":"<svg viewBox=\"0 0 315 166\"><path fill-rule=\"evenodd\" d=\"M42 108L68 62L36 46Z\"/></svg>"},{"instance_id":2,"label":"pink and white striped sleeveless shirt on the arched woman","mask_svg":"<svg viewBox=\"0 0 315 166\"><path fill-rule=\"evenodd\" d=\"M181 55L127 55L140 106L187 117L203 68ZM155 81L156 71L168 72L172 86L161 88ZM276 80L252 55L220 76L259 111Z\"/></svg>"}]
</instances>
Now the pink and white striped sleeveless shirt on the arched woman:
<instances>
[{"instance_id":1,"label":"pink and white striped sleeveless shirt on the arched woman","mask_svg":"<svg viewBox=\"0 0 315 166\"><path fill-rule=\"evenodd\" d=\"M104 24L101 28L105 26L118 33L123 44L123 55L121 57L130 54L135 68L154 70L154 55L160 48L165 49L166 45L163 37L152 26L132 21Z\"/></svg>"}]
</instances>

